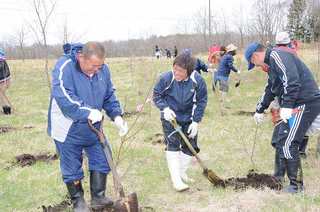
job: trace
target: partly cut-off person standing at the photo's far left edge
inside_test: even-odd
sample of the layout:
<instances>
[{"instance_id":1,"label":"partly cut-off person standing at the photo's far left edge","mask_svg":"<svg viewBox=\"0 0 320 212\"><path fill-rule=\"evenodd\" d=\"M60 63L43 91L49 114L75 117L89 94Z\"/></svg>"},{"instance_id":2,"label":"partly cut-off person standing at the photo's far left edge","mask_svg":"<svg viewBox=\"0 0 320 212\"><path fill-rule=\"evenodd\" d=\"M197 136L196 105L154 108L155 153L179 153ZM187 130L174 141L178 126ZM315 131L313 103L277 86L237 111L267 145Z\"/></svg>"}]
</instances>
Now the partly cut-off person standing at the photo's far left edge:
<instances>
[{"instance_id":1,"label":"partly cut-off person standing at the photo's far left edge","mask_svg":"<svg viewBox=\"0 0 320 212\"><path fill-rule=\"evenodd\" d=\"M3 113L11 114L11 105L6 91L10 85L10 70L6 62L4 51L0 49L0 104L2 105Z\"/></svg>"}]
</instances>

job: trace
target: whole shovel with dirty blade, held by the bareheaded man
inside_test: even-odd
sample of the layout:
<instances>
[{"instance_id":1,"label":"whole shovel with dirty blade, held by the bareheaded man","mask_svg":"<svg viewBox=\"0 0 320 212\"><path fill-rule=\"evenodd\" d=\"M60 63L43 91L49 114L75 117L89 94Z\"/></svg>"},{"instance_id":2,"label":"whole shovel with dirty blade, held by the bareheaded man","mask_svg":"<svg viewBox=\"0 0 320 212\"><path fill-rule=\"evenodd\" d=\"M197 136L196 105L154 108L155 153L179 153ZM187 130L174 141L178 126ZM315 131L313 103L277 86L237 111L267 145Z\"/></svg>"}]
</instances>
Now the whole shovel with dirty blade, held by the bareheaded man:
<instances>
[{"instance_id":1,"label":"whole shovel with dirty blade, held by the bareheaded man","mask_svg":"<svg viewBox=\"0 0 320 212\"><path fill-rule=\"evenodd\" d=\"M96 129L92 122L90 120L88 120L89 123L89 127L91 128L91 130L93 130L97 136L99 137L99 141L103 147L103 151L106 155L108 164L111 168L111 172L112 172L112 176L113 176L113 183L114 183L114 187L115 190L118 192L119 194L119 198L118 200L115 201L114 205L113 205L113 209L116 212L138 212L139 211L139 205L138 205L138 197L137 194L131 193L128 196L125 196L124 190L123 190L123 186L121 184L120 181L120 177L118 175L116 166L113 162L112 159L112 154L111 154L111 149L109 144L106 142L106 137L103 133L103 118L101 120L101 124L100 124L100 129Z\"/></svg>"}]
</instances>

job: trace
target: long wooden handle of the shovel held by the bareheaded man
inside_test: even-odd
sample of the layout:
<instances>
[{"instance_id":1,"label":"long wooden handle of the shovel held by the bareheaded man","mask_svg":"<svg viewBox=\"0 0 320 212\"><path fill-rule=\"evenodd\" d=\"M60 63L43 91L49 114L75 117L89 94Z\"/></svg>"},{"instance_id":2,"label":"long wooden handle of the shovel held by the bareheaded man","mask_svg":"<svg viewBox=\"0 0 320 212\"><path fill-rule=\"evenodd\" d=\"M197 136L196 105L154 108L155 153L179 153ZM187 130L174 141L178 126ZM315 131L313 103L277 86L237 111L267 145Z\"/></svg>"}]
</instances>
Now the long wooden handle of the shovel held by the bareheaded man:
<instances>
[{"instance_id":1,"label":"long wooden handle of the shovel held by the bareheaded man","mask_svg":"<svg viewBox=\"0 0 320 212\"><path fill-rule=\"evenodd\" d=\"M115 187L116 191L119 193L119 196L121 198L124 198L125 197L124 189L123 189L123 186L121 184L121 180L120 180L120 177L118 175L117 168L116 168L116 166L115 166L115 164L113 162L112 156L111 156L111 149L110 149L108 144L105 144L106 137L105 137L105 135L103 133L103 120L104 120L104 117L102 116L99 130L93 126L91 120L88 120L88 125L89 125L90 129L93 132L95 132L96 135L99 137L100 144L103 147L103 150L104 150L104 153L106 155L108 164L109 164L109 166L111 168L113 181L114 181L114 187Z\"/></svg>"}]
</instances>

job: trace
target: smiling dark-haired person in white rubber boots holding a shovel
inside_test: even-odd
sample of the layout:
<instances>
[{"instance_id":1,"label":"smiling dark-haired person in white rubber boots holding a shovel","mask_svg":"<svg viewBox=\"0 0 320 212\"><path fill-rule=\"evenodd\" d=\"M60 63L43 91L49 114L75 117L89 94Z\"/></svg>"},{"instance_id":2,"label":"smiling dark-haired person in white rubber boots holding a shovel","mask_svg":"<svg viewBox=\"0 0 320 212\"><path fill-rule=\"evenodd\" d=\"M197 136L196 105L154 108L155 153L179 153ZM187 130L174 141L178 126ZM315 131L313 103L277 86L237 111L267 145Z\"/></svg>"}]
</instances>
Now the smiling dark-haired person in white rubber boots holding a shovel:
<instances>
[{"instance_id":1,"label":"smiling dark-haired person in white rubber boots holding a shovel","mask_svg":"<svg viewBox=\"0 0 320 212\"><path fill-rule=\"evenodd\" d=\"M194 71L194 62L189 52L178 55L173 62L173 70L160 76L153 91L153 101L161 112L168 168L177 191L187 190L189 186L185 183L192 182L186 174L192 153L170 122L177 120L182 131L190 138L191 145L199 152L198 123L207 105L206 83Z\"/></svg>"}]
</instances>

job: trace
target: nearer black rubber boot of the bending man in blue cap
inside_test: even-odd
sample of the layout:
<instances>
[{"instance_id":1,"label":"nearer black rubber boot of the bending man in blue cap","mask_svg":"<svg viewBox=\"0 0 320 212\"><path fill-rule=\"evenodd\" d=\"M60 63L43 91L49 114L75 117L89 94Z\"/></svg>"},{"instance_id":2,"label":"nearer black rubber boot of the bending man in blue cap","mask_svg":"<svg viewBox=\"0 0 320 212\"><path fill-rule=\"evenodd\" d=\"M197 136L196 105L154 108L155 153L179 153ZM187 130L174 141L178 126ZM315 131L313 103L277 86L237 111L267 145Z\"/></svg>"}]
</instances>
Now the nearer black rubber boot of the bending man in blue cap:
<instances>
[{"instance_id":1,"label":"nearer black rubber boot of the bending man in blue cap","mask_svg":"<svg viewBox=\"0 0 320 212\"><path fill-rule=\"evenodd\" d=\"M290 180L289 186L285 189L287 193L298 193L303 190L303 179L300 159L287 160L287 174ZM300 170L299 170L300 169ZM298 173L299 171L299 173ZM298 179L299 176L299 179Z\"/></svg>"}]
</instances>

